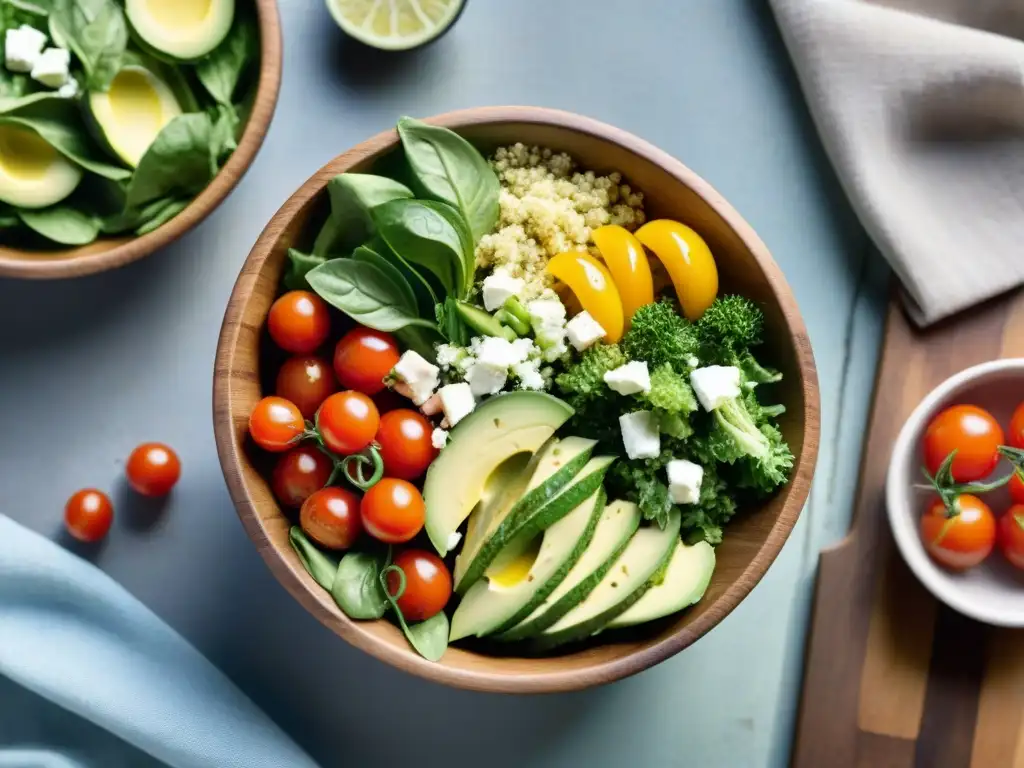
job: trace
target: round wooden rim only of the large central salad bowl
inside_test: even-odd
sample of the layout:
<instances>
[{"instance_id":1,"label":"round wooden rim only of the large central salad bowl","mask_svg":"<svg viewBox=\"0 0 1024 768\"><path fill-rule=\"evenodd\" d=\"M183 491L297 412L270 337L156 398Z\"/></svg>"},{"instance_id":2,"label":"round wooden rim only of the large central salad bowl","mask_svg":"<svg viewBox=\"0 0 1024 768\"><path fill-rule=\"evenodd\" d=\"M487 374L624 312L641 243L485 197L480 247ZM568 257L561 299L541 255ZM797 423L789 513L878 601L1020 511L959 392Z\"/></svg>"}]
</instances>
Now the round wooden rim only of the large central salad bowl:
<instances>
[{"instance_id":1,"label":"round wooden rim only of the large central salad bowl","mask_svg":"<svg viewBox=\"0 0 1024 768\"><path fill-rule=\"evenodd\" d=\"M231 292L217 345L213 381L213 411L217 453L236 511L270 570L307 611L349 644L400 670L458 688L503 693L551 693L580 690L629 677L673 656L717 626L760 582L793 530L807 500L811 476L817 460L820 429L817 371L807 329L785 278L753 228L707 181L680 161L652 144L591 118L538 106L473 108L428 118L426 122L453 129L481 124L541 124L589 134L618 144L639 158L659 166L680 183L687 185L701 197L742 240L763 270L782 315L785 317L805 402L803 450L795 467L793 478L782 492L787 494L787 498L779 512L778 519L746 568L692 624L651 645L584 670L560 670L558 658L553 657L550 672L516 675L457 669L446 667L443 663L428 662L411 650L398 648L358 630L356 627L358 623L345 616L331 602L330 596L313 582L301 564L288 562L278 552L256 514L249 484L240 471L242 463L248 463L248 459L245 457L244 446L236 438L233 428L236 420L240 417L244 416L244 419L248 419L248 413L243 415L237 411L234 398L230 396L229 382L236 373L234 355L240 336L243 330L247 334L259 333L259 329L254 329L243 323L246 304L264 262L273 251L280 232L291 220L294 212L301 210L311 198L319 195L330 178L347 170L355 163L374 157L381 151L395 144L397 133L394 129L383 131L339 155L314 173L292 195L274 214L254 245ZM253 372L245 372L244 375L251 378L254 374ZM543 663L544 659L538 659L538 664Z\"/></svg>"}]
</instances>

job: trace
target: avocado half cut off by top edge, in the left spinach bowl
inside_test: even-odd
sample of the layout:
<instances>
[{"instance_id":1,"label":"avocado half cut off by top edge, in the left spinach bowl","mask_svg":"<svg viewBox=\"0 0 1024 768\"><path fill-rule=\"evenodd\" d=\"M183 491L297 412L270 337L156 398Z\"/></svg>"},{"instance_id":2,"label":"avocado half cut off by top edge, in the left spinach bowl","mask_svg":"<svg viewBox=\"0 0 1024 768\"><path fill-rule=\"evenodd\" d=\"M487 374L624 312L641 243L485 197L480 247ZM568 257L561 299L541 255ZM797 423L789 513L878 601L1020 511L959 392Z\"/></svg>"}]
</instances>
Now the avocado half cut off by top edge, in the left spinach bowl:
<instances>
[{"instance_id":1,"label":"avocado half cut off by top edge, in the left spinach bowl","mask_svg":"<svg viewBox=\"0 0 1024 768\"><path fill-rule=\"evenodd\" d=\"M234 0L126 0L125 16L144 48L161 57L195 61L227 37Z\"/></svg>"}]
</instances>

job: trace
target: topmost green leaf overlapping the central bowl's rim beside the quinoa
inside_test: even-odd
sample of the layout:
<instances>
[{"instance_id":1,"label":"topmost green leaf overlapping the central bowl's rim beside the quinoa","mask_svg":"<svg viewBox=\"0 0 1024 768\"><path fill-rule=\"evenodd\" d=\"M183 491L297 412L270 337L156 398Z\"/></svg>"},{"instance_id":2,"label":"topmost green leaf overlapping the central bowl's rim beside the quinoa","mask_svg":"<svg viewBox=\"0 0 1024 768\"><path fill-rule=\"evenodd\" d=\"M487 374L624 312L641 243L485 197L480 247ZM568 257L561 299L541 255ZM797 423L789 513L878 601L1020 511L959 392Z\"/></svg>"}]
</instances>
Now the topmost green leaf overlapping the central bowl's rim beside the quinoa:
<instances>
[{"instance_id":1,"label":"topmost green leaf overlapping the central bowl's rim beside the quinoa","mask_svg":"<svg viewBox=\"0 0 1024 768\"><path fill-rule=\"evenodd\" d=\"M447 203L466 220L473 243L498 223L498 176L471 143L447 128L398 121L406 161L422 197Z\"/></svg>"}]
</instances>

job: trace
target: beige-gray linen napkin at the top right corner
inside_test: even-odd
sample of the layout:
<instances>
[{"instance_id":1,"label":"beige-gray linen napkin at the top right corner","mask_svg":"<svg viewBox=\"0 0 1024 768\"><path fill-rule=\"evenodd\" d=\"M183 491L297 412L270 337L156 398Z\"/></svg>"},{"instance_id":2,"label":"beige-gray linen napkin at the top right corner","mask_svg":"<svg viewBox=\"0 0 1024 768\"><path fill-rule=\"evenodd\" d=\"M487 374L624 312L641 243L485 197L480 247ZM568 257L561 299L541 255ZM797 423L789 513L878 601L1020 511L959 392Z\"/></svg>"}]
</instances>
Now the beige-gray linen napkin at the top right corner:
<instances>
[{"instance_id":1,"label":"beige-gray linen napkin at the top right corner","mask_svg":"<svg viewBox=\"0 0 1024 768\"><path fill-rule=\"evenodd\" d=\"M1024 285L1024 3L770 2L914 321Z\"/></svg>"}]
</instances>

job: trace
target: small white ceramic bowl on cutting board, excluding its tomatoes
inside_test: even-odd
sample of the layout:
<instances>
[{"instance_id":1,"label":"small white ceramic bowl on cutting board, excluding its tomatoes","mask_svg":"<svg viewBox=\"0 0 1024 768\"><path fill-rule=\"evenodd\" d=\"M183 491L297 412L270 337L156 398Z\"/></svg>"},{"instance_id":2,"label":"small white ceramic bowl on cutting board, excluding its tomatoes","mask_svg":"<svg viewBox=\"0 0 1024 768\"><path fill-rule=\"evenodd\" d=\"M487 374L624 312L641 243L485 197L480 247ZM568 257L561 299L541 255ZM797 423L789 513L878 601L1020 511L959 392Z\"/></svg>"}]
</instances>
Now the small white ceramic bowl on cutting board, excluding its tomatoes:
<instances>
[{"instance_id":1,"label":"small white ceramic bowl on cutting board, excluding its tomatoes","mask_svg":"<svg viewBox=\"0 0 1024 768\"><path fill-rule=\"evenodd\" d=\"M1024 400L1024 358L983 362L946 379L914 409L893 446L886 482L889 524L903 559L922 584L946 605L979 622L1000 627L1024 627L1024 572L1014 568L998 548L977 567L953 572L937 564L925 551L919 522L934 493L914 487L925 482L921 438L932 418L959 402L980 406L1004 429L1014 409ZM999 462L993 476L1009 471ZM998 516L1010 506L1000 488L983 497Z\"/></svg>"}]
</instances>

